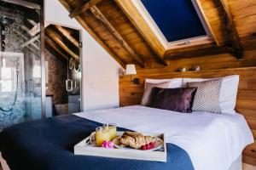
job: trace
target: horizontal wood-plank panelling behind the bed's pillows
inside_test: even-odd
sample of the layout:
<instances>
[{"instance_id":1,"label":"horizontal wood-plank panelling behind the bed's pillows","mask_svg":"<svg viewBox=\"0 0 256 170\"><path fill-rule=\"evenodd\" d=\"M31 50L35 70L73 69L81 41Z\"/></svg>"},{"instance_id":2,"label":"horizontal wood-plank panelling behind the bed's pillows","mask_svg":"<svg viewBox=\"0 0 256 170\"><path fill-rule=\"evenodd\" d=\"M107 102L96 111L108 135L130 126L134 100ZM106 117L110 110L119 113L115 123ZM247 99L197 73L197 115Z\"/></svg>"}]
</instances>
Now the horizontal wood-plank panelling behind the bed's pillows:
<instances>
[{"instance_id":1,"label":"horizontal wood-plank panelling behind the bed's pillows","mask_svg":"<svg viewBox=\"0 0 256 170\"><path fill-rule=\"evenodd\" d=\"M160 72L160 71L159 71ZM160 72L151 73L150 70L139 71L132 78L139 78L138 85L131 82L130 76L119 77L119 102L120 106L139 105L143 97L145 78L213 78L229 75L240 75L239 90L236 100L236 111L246 117L249 127L256 138L256 67L233 68L212 71L187 71L187 72ZM247 146L243 151L243 161L256 166L256 143Z\"/></svg>"}]
</instances>

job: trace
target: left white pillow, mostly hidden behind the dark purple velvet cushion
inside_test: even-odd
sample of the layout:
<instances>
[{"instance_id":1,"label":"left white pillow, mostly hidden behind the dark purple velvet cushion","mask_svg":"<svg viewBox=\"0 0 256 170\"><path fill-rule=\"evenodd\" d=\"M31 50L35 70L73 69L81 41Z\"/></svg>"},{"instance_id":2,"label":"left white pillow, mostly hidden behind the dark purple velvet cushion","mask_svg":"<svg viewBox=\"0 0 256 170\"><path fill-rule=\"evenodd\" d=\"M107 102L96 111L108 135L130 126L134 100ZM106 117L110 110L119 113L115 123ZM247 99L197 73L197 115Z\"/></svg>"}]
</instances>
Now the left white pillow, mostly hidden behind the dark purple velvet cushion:
<instances>
[{"instance_id":1,"label":"left white pillow, mostly hidden behind the dark purple velvet cushion","mask_svg":"<svg viewBox=\"0 0 256 170\"><path fill-rule=\"evenodd\" d=\"M183 78L172 78L172 79L145 79L145 82L149 83L161 83L161 82L170 82L168 88L182 88ZM146 83L145 83L146 85Z\"/></svg>"}]
</instances>

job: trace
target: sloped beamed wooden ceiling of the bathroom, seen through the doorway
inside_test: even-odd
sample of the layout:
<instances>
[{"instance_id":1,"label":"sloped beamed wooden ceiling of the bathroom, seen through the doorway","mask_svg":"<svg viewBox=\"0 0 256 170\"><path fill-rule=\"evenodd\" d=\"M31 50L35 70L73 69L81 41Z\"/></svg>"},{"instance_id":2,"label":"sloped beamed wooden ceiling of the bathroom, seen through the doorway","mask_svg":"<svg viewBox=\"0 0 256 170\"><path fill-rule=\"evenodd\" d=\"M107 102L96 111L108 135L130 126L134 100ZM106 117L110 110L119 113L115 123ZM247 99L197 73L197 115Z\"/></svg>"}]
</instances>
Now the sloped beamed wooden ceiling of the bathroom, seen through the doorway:
<instances>
[{"instance_id":1,"label":"sloped beamed wooden ceiling of the bathroom, seen through the doorway","mask_svg":"<svg viewBox=\"0 0 256 170\"><path fill-rule=\"evenodd\" d=\"M45 48L62 59L79 60L79 31L64 26L45 28Z\"/></svg>"}]
</instances>

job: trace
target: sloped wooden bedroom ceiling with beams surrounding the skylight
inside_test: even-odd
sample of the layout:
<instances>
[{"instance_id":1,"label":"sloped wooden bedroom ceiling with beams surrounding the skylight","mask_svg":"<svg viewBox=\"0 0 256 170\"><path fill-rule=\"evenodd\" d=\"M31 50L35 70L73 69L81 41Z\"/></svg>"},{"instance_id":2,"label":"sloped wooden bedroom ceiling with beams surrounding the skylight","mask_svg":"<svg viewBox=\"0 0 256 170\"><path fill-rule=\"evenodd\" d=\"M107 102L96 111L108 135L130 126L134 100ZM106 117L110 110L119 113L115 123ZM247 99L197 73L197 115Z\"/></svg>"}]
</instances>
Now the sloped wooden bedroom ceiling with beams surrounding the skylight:
<instances>
[{"instance_id":1,"label":"sloped wooden bedroom ceiling with beams surrounding the skylight","mask_svg":"<svg viewBox=\"0 0 256 170\"><path fill-rule=\"evenodd\" d=\"M160 44L131 0L59 1L123 67L144 68L148 62L167 66L172 59L207 54L229 53L241 59L244 50L256 48L255 0L196 0L213 42L171 49Z\"/></svg>"}]
</instances>

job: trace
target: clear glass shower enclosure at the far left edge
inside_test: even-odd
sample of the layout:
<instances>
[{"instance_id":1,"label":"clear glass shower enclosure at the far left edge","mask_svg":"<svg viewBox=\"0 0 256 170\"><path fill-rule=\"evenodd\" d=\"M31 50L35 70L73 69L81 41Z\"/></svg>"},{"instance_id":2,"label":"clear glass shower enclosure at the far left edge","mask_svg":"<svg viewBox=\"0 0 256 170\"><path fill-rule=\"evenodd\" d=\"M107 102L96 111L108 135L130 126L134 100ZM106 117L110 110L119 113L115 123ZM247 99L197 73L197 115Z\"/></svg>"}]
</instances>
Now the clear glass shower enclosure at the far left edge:
<instances>
[{"instance_id":1,"label":"clear glass shower enclosure at the far left edge","mask_svg":"<svg viewBox=\"0 0 256 170\"><path fill-rule=\"evenodd\" d=\"M43 5L31 2L0 0L0 130L42 117Z\"/></svg>"}]
</instances>

